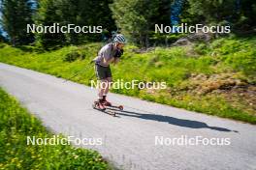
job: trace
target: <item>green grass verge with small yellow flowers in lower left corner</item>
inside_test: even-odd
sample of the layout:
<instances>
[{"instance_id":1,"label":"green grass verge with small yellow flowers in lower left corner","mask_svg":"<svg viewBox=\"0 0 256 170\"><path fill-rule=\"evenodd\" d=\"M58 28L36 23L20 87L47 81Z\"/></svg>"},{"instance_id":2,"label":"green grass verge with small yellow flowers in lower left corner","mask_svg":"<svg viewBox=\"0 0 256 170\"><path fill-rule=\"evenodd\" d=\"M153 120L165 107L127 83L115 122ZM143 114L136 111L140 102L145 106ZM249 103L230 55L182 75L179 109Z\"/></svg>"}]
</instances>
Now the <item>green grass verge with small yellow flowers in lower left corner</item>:
<instances>
[{"instance_id":1,"label":"green grass verge with small yellow flowers in lower left corner","mask_svg":"<svg viewBox=\"0 0 256 170\"><path fill-rule=\"evenodd\" d=\"M71 145L27 145L27 136L53 134L0 89L0 169L110 169L97 152Z\"/></svg>"}]
</instances>

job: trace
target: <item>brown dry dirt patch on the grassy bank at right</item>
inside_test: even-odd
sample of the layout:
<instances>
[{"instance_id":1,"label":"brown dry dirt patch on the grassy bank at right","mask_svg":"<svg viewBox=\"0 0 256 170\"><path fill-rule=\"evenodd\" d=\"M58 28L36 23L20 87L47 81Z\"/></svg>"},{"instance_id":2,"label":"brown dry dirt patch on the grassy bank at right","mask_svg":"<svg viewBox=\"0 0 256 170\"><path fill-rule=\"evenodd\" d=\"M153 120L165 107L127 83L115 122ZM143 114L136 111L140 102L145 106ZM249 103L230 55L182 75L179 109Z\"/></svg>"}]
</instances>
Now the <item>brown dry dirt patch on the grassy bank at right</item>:
<instances>
[{"instance_id":1,"label":"brown dry dirt patch on the grassy bank at right","mask_svg":"<svg viewBox=\"0 0 256 170\"><path fill-rule=\"evenodd\" d=\"M256 115L256 86L236 78L235 73L193 74L183 90L195 95L215 94L236 108Z\"/></svg>"}]
</instances>

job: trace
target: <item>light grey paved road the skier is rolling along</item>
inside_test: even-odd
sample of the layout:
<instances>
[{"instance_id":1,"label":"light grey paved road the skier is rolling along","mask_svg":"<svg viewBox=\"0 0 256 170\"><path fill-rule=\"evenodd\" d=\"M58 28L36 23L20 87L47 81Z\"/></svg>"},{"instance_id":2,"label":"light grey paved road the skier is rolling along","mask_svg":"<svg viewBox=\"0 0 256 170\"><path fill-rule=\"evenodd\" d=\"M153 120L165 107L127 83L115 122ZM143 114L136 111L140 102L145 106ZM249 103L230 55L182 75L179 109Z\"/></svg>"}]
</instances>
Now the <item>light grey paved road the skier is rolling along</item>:
<instances>
[{"instance_id":1,"label":"light grey paved road the skier is rolling along","mask_svg":"<svg viewBox=\"0 0 256 170\"><path fill-rule=\"evenodd\" d=\"M91 144L102 140L82 147L121 169L256 169L256 126L110 94L125 107L114 118L91 108L96 90L90 87L5 64L0 86L53 131ZM196 138L219 145L193 145Z\"/></svg>"}]
</instances>

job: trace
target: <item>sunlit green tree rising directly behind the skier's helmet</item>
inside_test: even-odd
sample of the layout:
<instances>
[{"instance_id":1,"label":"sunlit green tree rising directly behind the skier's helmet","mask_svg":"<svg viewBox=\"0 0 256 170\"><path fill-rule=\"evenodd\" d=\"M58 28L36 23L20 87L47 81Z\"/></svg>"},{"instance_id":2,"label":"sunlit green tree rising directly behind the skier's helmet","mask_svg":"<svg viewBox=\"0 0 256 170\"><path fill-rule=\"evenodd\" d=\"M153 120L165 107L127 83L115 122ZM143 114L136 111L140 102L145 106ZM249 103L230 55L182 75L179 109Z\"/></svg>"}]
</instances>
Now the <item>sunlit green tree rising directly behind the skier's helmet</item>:
<instances>
[{"instance_id":1,"label":"sunlit green tree rising directly behind the skier's helmet","mask_svg":"<svg viewBox=\"0 0 256 170\"><path fill-rule=\"evenodd\" d=\"M166 7L166 3L167 1L114 0L111 9L115 23L121 32L131 42L148 47L149 35L154 31L154 25L159 21L168 22L167 19L169 20L170 4L168 3ZM163 14L164 12L168 14Z\"/></svg>"}]
</instances>

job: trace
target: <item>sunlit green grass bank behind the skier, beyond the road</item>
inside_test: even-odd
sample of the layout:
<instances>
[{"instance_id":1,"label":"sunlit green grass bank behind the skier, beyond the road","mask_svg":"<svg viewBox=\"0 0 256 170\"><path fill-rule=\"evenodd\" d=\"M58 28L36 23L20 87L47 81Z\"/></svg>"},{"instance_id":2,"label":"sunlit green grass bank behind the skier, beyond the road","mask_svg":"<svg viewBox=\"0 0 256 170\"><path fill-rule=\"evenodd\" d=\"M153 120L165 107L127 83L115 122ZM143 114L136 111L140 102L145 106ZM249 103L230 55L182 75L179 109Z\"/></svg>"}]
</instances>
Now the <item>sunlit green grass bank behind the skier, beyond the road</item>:
<instances>
[{"instance_id":1,"label":"sunlit green grass bank behind the skier, beyond the road","mask_svg":"<svg viewBox=\"0 0 256 170\"><path fill-rule=\"evenodd\" d=\"M96 56L100 46L100 43L88 43L37 53L2 45L0 61L63 78L69 78L85 68L72 80L90 85L90 79L96 80L96 77L93 65L88 66L88 63ZM31 49L29 46L27 48ZM228 79L236 79L255 87L256 37L230 37L208 44L156 47L144 53L136 53L136 50L136 46L125 47L121 62L112 67L113 79L165 81L168 89L150 92L136 88L112 92L256 124L256 103L250 103L254 102L253 99L238 102L241 97L236 96L233 91L215 93L217 89L214 89L219 82ZM208 79L196 81L193 79L194 75L204 75ZM221 77L211 80L215 75ZM210 85L212 83L215 83L213 87ZM233 100L226 94L232 95Z\"/></svg>"}]
</instances>

